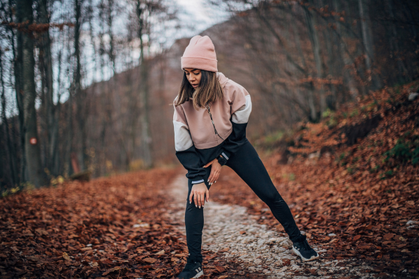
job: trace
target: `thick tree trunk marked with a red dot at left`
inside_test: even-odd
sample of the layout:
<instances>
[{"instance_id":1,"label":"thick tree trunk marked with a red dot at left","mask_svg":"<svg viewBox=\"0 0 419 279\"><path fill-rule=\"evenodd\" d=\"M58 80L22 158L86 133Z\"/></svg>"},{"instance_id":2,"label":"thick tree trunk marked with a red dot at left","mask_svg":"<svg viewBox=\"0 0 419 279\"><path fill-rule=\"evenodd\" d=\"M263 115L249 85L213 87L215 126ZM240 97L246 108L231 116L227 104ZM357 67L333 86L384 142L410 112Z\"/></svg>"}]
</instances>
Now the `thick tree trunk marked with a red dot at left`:
<instances>
[{"instance_id":1,"label":"thick tree trunk marked with a red dot at left","mask_svg":"<svg viewBox=\"0 0 419 279\"><path fill-rule=\"evenodd\" d=\"M33 22L32 1L19 0L17 7L20 8L22 22ZM34 41L31 33L22 33L22 91L24 111L24 147L26 151L29 182L34 186L41 187L47 183L43 167L41 165L41 149L38 137L38 125L36 121L35 99L35 59Z\"/></svg>"}]
</instances>

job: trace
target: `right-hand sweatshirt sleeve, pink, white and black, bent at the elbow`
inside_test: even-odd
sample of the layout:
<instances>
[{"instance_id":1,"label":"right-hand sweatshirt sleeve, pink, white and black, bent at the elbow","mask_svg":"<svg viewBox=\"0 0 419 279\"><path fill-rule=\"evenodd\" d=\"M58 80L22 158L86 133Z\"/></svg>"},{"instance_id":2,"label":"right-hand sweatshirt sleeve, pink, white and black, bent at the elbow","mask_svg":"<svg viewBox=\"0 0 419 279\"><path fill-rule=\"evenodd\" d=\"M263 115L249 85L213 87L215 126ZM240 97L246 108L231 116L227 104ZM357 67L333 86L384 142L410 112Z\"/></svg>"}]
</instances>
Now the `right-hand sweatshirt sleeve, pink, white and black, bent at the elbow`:
<instances>
[{"instance_id":1,"label":"right-hand sweatshirt sleeve, pink, white and black, bent at the elbow","mask_svg":"<svg viewBox=\"0 0 419 279\"><path fill-rule=\"evenodd\" d=\"M251 113L251 98L249 92L243 86L235 84L232 90L232 103L230 121L233 125L233 132L227 137L226 145L221 149L219 157L225 158L221 165L244 144L246 140L246 127Z\"/></svg>"}]
</instances>

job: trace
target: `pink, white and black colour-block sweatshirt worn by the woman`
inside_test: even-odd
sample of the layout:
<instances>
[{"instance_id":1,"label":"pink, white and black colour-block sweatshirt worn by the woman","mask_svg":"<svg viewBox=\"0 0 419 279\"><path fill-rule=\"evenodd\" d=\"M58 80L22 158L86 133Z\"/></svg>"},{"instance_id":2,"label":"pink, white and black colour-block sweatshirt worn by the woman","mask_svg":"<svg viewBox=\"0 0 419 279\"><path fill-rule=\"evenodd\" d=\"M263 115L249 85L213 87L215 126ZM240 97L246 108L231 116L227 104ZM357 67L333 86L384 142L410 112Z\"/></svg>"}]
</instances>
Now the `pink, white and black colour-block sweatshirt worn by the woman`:
<instances>
[{"instance_id":1,"label":"pink, white and black colour-block sweatshirt worn by the woman","mask_svg":"<svg viewBox=\"0 0 419 279\"><path fill-rule=\"evenodd\" d=\"M246 126L251 113L249 92L223 73L217 73L217 77L224 96L210 106L212 120L206 108L195 110L192 100L173 105L176 156L188 170L186 177L192 183L203 182L203 165L219 155L228 160L247 140Z\"/></svg>"}]
</instances>

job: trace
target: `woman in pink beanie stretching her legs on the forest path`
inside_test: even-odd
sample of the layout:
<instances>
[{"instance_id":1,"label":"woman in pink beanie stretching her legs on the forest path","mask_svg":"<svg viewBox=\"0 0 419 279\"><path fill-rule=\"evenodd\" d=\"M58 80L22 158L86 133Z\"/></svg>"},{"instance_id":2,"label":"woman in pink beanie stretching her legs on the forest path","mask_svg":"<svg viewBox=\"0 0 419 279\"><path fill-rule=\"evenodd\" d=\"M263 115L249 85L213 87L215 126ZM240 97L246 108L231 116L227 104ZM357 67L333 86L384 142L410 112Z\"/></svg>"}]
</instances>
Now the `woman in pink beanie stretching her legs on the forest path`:
<instances>
[{"instance_id":1,"label":"woman in pink beanie stretching her legs on the forest path","mask_svg":"<svg viewBox=\"0 0 419 279\"><path fill-rule=\"evenodd\" d=\"M189 256L177 278L203 276L204 205L221 167L232 168L271 209L303 261L318 257L295 225L258 153L246 138L251 98L243 86L218 73L212 40L194 36L181 58L184 77L173 101L176 156L188 170L185 225Z\"/></svg>"}]
</instances>

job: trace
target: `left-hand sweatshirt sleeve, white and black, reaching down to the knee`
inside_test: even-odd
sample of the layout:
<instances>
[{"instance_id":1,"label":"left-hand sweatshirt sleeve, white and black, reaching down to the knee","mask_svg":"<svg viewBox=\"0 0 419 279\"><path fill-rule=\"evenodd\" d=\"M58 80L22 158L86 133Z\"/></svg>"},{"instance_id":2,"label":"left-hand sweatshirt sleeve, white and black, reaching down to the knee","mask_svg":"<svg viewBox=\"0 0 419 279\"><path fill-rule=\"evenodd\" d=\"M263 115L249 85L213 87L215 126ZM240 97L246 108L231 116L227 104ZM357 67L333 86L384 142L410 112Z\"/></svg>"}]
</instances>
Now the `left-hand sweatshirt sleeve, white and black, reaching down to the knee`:
<instances>
[{"instance_id":1,"label":"left-hand sweatshirt sleeve, white and black, reaching down to the knee","mask_svg":"<svg viewBox=\"0 0 419 279\"><path fill-rule=\"evenodd\" d=\"M173 114L173 128L175 129L175 150L176 157L188 171L186 177L192 180L193 184L204 182L205 168L201 167L200 158L192 142L189 126L182 105L175 106Z\"/></svg>"}]
</instances>

